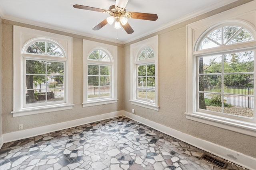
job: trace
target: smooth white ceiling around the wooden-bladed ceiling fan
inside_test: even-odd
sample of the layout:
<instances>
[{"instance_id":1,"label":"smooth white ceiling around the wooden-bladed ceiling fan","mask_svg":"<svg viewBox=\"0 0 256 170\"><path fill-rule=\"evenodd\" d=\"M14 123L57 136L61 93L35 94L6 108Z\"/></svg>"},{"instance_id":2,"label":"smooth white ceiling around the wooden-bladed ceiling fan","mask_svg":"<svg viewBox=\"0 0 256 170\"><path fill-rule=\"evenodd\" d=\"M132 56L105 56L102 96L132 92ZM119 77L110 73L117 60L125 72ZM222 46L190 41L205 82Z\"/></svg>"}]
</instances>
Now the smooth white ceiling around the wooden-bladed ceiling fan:
<instances>
[{"instance_id":1,"label":"smooth white ceiling around the wooden-bladed ceiling fan","mask_svg":"<svg viewBox=\"0 0 256 170\"><path fill-rule=\"evenodd\" d=\"M129 18L134 33L127 34L123 28L105 25L98 31L94 26L109 14L73 8L74 4L106 9L115 0L0 0L2 19L76 33L108 41L127 43L154 33L180 21L219 8L236 0L129 0L126 12L157 14L158 20ZM116 37L118 35L118 41Z\"/></svg>"}]
</instances>

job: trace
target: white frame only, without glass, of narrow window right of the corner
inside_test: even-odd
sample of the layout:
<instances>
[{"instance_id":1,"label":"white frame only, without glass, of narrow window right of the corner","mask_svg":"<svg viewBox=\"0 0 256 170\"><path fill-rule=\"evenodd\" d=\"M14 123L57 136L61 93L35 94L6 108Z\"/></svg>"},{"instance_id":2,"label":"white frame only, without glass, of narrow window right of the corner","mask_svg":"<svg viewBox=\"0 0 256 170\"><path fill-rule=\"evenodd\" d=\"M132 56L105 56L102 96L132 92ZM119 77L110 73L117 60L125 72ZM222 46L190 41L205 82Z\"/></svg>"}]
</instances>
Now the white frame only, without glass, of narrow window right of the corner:
<instances>
[{"instance_id":1,"label":"white frame only, without glass, of narrow window right of the corner","mask_svg":"<svg viewBox=\"0 0 256 170\"><path fill-rule=\"evenodd\" d=\"M147 47L151 47L154 50L155 57L151 59L146 59L138 61L138 56L141 51ZM138 64L155 64L155 102L151 103L145 100L139 100L137 98L137 65ZM158 106L158 35L134 43L130 45L130 69L131 69L131 85L130 85L130 103L146 107L148 109L159 111Z\"/></svg>"}]
</instances>

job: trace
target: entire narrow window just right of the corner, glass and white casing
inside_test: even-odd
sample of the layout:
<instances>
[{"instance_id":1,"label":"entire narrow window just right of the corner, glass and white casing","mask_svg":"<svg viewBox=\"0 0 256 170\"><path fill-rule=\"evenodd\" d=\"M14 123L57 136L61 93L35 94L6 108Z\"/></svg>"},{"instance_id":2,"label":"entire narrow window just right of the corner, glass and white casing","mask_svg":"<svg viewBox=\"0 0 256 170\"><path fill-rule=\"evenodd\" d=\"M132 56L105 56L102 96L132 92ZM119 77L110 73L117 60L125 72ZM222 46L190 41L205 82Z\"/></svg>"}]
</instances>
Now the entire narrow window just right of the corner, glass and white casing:
<instances>
[{"instance_id":1,"label":"entire narrow window just right of the corner, glass and white casing","mask_svg":"<svg viewBox=\"0 0 256 170\"><path fill-rule=\"evenodd\" d=\"M134 43L130 48L130 102L158 111L158 36Z\"/></svg>"}]
</instances>

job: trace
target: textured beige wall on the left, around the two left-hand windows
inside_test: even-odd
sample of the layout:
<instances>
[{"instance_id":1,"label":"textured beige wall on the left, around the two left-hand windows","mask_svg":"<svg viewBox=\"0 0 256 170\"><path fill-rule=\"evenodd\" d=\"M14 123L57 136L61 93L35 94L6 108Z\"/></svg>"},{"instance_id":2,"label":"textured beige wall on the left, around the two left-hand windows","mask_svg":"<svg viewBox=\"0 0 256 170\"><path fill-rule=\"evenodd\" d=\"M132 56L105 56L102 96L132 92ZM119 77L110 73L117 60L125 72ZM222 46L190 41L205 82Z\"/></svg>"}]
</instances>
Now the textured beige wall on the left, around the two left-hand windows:
<instances>
[{"instance_id":1,"label":"textured beige wall on the left, around the two left-hand windows","mask_svg":"<svg viewBox=\"0 0 256 170\"><path fill-rule=\"evenodd\" d=\"M39 29L68 35L73 37L73 109L65 111L56 111L51 113L42 113L36 115L28 115L21 117L13 117L10 113L13 109L13 25ZM70 33L54 31L42 27L35 27L18 23L14 21L3 20L2 24L2 39L3 39L3 55L2 55L2 70L3 72L3 133L18 131L18 124L23 123L24 129L110 113L123 109L123 45L100 41L88 37L82 37ZM98 41L118 46L118 102L102 106L82 107L83 102L83 39Z\"/></svg>"}]
</instances>

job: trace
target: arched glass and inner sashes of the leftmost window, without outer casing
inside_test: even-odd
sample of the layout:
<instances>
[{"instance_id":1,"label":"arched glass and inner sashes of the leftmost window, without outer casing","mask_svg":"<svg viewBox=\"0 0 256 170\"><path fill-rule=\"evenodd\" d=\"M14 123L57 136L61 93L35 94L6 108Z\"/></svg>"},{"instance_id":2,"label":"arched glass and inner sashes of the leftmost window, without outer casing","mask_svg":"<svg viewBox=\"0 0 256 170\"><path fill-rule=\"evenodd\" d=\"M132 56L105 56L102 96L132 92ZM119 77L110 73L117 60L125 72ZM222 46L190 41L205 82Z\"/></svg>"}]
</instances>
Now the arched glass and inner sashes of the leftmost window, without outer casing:
<instances>
[{"instance_id":1,"label":"arched glass and inner sashes of the leftmost window, without outer casing","mask_svg":"<svg viewBox=\"0 0 256 170\"><path fill-rule=\"evenodd\" d=\"M59 58L66 57L63 51L51 39L35 39L24 45L24 107L65 101L66 61Z\"/></svg>"}]
</instances>

